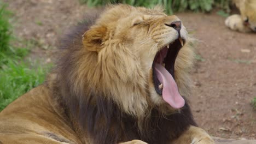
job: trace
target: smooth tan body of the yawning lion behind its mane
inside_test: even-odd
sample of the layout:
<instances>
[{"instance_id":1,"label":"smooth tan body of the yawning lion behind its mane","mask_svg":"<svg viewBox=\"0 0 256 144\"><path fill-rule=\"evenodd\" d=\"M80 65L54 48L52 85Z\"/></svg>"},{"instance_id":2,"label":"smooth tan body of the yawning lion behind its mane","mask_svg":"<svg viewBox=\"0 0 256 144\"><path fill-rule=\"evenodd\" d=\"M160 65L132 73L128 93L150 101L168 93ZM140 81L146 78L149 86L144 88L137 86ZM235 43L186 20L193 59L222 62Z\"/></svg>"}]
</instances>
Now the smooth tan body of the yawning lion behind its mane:
<instances>
[{"instance_id":1,"label":"smooth tan body of the yawning lion behind its mane","mask_svg":"<svg viewBox=\"0 0 256 144\"><path fill-rule=\"evenodd\" d=\"M44 84L11 103L0 116L0 143L81 143Z\"/></svg>"}]
</instances>

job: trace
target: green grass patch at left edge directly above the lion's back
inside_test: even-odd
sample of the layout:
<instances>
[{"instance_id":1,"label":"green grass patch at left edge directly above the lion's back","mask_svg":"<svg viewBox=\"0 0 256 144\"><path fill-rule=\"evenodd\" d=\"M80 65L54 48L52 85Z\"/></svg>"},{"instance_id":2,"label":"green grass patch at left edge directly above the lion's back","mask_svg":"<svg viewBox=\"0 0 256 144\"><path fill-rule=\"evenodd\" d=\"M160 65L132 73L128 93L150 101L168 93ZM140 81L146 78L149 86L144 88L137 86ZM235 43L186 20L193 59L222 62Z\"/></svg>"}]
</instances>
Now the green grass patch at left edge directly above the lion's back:
<instances>
[{"instance_id":1,"label":"green grass patch at left edge directly above the lion's back","mask_svg":"<svg viewBox=\"0 0 256 144\"><path fill-rule=\"evenodd\" d=\"M50 65L36 67L37 62L30 64L8 59L0 70L0 111L11 101L40 85Z\"/></svg>"}]
</instances>

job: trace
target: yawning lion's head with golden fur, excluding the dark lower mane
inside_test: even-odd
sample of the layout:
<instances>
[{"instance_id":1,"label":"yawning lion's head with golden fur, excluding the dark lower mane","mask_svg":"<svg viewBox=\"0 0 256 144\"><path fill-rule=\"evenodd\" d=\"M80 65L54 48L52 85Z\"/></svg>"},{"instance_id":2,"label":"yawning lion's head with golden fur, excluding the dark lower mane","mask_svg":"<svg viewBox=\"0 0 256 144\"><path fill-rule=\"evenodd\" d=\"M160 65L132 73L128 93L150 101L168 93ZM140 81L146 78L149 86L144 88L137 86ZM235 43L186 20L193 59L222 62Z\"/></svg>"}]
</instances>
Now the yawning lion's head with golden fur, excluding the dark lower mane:
<instances>
[{"instance_id":1,"label":"yawning lion's head with golden fur, excluding the dark lower mane","mask_svg":"<svg viewBox=\"0 0 256 144\"><path fill-rule=\"evenodd\" d=\"M133 116L152 107L184 106L193 52L177 16L167 16L161 7L112 5L91 23L63 50L61 80L69 89L64 93L77 101L101 95Z\"/></svg>"}]
</instances>

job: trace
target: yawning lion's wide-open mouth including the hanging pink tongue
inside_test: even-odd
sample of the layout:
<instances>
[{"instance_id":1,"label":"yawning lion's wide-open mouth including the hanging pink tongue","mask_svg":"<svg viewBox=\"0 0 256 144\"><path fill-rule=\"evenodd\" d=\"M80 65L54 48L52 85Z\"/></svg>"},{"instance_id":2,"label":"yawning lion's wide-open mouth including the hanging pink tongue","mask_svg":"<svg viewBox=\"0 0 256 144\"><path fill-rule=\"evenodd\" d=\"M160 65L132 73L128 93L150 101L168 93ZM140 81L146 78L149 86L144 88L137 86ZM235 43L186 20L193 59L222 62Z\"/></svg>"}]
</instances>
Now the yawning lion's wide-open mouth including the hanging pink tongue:
<instances>
[{"instance_id":1,"label":"yawning lion's wide-open mouth including the hanging pink tongue","mask_svg":"<svg viewBox=\"0 0 256 144\"><path fill-rule=\"evenodd\" d=\"M156 53L152 65L155 91L162 95L162 98L174 109L179 109L185 104L174 81L174 64L179 50L184 45L184 41L184 39L178 38L162 47Z\"/></svg>"}]
</instances>

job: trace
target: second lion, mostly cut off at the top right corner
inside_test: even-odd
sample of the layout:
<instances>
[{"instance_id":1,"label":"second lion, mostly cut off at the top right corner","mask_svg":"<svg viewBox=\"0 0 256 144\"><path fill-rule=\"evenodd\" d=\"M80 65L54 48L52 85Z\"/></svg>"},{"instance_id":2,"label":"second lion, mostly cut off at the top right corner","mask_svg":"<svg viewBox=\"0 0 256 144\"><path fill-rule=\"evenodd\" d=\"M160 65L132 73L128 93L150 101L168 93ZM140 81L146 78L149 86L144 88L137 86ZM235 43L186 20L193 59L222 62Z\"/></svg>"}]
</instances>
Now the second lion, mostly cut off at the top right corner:
<instances>
[{"instance_id":1,"label":"second lion, mostly cut off at the top right corner","mask_svg":"<svg viewBox=\"0 0 256 144\"><path fill-rule=\"evenodd\" d=\"M256 32L256 1L233 0L241 15L231 15L225 20L225 25L234 31Z\"/></svg>"}]
</instances>

